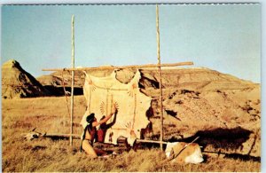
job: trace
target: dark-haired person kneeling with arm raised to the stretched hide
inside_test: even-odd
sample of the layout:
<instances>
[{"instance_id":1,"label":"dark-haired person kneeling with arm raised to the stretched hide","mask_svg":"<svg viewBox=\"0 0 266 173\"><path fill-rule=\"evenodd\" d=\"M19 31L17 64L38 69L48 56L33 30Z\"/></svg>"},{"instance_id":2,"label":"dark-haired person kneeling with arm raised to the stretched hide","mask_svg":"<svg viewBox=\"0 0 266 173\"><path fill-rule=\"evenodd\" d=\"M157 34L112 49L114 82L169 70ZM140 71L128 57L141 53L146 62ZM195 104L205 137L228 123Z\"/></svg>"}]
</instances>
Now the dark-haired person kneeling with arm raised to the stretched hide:
<instances>
[{"instance_id":1,"label":"dark-haired person kneeling with arm raised to the stretched hide","mask_svg":"<svg viewBox=\"0 0 266 173\"><path fill-rule=\"evenodd\" d=\"M112 108L112 112L106 116L106 118L100 120L97 122L97 119L95 118L95 114L90 114L86 118L86 122L88 125L85 127L82 135L82 150L85 151L88 155L95 158L98 155L103 155L105 152L98 150L97 148L93 148L93 141L94 138L96 138L97 135L97 129L96 127L98 125L101 125L102 123L107 122L113 114L116 114L117 109L115 106Z\"/></svg>"}]
</instances>

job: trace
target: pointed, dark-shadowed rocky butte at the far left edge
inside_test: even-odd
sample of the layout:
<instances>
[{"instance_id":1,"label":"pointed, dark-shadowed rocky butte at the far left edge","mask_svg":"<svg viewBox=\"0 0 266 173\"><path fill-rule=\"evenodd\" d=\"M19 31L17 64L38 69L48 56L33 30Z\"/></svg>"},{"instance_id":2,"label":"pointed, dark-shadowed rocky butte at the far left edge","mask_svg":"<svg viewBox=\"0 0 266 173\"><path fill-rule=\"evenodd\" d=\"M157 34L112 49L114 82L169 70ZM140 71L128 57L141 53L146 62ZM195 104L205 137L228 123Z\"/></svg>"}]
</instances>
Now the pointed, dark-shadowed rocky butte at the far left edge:
<instances>
[{"instance_id":1,"label":"pointed, dark-shadowed rocky butte at the far left edge","mask_svg":"<svg viewBox=\"0 0 266 173\"><path fill-rule=\"evenodd\" d=\"M31 98L51 95L34 76L14 59L2 66L2 98Z\"/></svg>"}]
</instances>

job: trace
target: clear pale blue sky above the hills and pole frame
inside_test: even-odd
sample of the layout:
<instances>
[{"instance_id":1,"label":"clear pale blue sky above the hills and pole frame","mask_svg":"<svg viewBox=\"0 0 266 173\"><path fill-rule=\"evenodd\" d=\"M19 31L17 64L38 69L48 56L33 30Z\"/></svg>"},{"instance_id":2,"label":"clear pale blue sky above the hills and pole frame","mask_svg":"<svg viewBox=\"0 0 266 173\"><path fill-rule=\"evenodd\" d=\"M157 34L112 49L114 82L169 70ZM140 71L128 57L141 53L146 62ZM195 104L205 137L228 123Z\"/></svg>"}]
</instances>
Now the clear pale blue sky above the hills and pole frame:
<instances>
[{"instance_id":1,"label":"clear pale blue sky above the hills and pole frame","mask_svg":"<svg viewBox=\"0 0 266 173\"><path fill-rule=\"evenodd\" d=\"M2 6L1 62L16 59L35 77L43 68L156 64L155 5ZM193 61L261 81L260 4L160 5L162 63Z\"/></svg>"}]
</instances>

